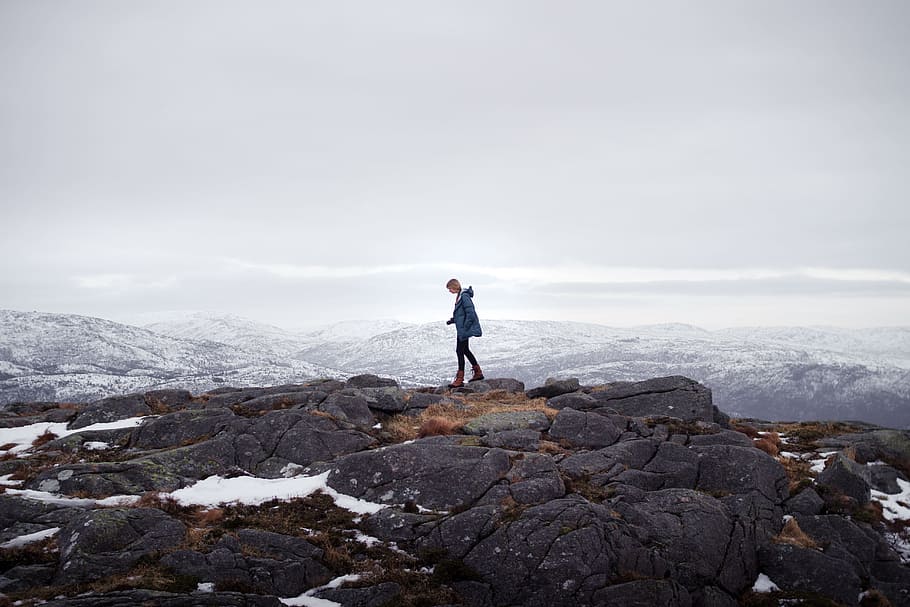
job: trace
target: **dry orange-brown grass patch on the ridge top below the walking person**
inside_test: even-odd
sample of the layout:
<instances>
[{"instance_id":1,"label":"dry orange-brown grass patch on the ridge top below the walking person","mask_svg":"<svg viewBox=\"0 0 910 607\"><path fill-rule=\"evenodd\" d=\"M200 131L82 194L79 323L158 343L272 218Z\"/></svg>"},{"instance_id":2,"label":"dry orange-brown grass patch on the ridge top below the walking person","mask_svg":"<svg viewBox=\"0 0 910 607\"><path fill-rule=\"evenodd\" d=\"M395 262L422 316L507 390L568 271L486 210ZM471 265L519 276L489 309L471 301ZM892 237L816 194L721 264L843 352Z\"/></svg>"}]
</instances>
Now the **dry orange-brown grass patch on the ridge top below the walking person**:
<instances>
[{"instance_id":1,"label":"dry orange-brown grass patch on the ridge top below the walking person","mask_svg":"<svg viewBox=\"0 0 910 607\"><path fill-rule=\"evenodd\" d=\"M457 429L481 415L514 411L542 411L550 419L556 417L558 413L556 409L547 407L545 398L529 399L521 392L494 390L483 394L465 395L462 402L430 405L416 417L397 415L384 424L384 429L392 437L393 442L404 442L419 438L424 423L434 418L436 421L430 422L432 425L443 427L445 424Z\"/></svg>"}]
</instances>

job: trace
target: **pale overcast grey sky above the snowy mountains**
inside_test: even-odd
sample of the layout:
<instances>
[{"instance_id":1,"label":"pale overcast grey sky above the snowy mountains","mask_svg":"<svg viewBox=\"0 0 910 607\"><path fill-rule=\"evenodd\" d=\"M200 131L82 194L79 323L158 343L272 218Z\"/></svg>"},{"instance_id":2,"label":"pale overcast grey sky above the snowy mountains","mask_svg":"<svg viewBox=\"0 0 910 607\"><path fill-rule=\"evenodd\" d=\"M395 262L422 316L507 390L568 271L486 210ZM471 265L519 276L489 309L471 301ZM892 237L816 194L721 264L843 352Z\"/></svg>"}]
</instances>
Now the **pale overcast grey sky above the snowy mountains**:
<instances>
[{"instance_id":1,"label":"pale overcast grey sky above the snowy mountains","mask_svg":"<svg viewBox=\"0 0 910 607\"><path fill-rule=\"evenodd\" d=\"M0 308L910 325L910 3L0 0Z\"/></svg>"}]
</instances>

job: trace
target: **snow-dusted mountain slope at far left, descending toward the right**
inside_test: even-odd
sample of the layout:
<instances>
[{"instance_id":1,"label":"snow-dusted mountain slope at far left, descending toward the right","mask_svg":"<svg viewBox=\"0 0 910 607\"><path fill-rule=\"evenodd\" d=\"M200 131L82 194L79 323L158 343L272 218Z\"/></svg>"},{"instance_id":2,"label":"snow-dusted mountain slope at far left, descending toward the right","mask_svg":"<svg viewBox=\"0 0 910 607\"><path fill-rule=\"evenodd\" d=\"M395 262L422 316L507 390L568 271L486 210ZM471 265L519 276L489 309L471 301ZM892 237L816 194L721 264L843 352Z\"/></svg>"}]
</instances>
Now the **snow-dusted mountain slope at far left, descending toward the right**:
<instances>
[{"instance_id":1,"label":"snow-dusted mountain slope at far left, descending toward the right","mask_svg":"<svg viewBox=\"0 0 910 607\"><path fill-rule=\"evenodd\" d=\"M266 342L266 337L262 338ZM155 388L300 382L343 373L216 341L99 318L0 310L0 404L88 401Z\"/></svg>"}]
</instances>

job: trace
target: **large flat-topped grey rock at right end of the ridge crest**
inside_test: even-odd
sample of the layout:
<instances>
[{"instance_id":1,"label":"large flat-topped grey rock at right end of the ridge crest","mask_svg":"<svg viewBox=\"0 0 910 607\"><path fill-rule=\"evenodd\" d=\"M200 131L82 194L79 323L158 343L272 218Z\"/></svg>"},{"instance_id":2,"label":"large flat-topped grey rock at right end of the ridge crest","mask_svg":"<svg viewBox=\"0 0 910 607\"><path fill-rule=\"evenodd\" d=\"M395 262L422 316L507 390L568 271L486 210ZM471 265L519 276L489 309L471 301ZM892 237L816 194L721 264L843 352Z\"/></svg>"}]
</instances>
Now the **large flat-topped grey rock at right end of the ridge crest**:
<instances>
[{"instance_id":1,"label":"large flat-topped grey rock at right end of the ridge crest","mask_svg":"<svg viewBox=\"0 0 910 607\"><path fill-rule=\"evenodd\" d=\"M609 384L591 396L601 407L631 417L676 417L715 422L711 391L687 377L671 376L632 383Z\"/></svg>"}]
</instances>

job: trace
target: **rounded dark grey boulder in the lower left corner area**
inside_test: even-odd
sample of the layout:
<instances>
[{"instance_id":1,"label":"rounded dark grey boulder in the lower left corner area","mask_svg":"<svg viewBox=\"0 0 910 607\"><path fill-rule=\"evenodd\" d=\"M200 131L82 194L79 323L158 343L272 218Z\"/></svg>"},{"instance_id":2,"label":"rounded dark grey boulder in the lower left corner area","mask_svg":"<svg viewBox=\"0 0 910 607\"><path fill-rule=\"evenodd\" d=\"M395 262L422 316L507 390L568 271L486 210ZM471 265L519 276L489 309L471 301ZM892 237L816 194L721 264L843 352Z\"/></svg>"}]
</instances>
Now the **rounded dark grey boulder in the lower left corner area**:
<instances>
[{"instance_id":1,"label":"rounded dark grey boulder in the lower left corner area","mask_svg":"<svg viewBox=\"0 0 910 607\"><path fill-rule=\"evenodd\" d=\"M186 527L153 508L94 510L60 530L56 583L79 584L129 571L139 560L178 546Z\"/></svg>"}]
</instances>

